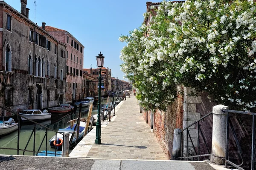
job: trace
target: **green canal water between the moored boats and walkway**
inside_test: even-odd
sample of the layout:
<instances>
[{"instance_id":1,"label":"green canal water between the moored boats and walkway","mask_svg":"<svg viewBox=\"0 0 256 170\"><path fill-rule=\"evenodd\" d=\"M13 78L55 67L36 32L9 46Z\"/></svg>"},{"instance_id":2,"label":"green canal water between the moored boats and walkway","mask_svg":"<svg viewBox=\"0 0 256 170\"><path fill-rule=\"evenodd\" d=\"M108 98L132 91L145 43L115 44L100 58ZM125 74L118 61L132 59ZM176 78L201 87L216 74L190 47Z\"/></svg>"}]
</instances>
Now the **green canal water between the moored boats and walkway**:
<instances>
[{"instance_id":1,"label":"green canal water between the moored boats and walkway","mask_svg":"<svg viewBox=\"0 0 256 170\"><path fill-rule=\"evenodd\" d=\"M109 103L110 101L112 101L113 97L109 97L108 100L108 104L111 105L111 103ZM104 98L101 100L101 107L105 107L107 102L107 98ZM41 121L38 122L46 127L49 127L52 130L56 130L58 131L58 129L64 129L68 126L70 126L70 123L67 123L68 121L78 118L78 112L79 109L77 109L77 111L72 114L68 114L68 115L62 115L62 116L52 116L51 119L46 120L46 121ZM82 108L82 112L81 112L81 118L86 118L88 116L88 112L89 112L89 108L88 107L84 107ZM96 115L97 114L97 104L94 105L93 107L93 111L92 111L92 115ZM22 150L30 150L33 151L34 146L33 146L33 141L34 141L34 134L32 135L29 144L26 147L26 144L29 140L29 137L32 133L32 130L34 128L34 124L28 124L28 123L24 123L21 125L20 128L20 144L19 144L19 148ZM44 127L41 127L39 125L36 125L36 133L35 133L35 151L38 151L40 144L44 138L44 135L46 133L46 130ZM0 147L4 147L4 148L14 148L17 149L17 130L4 135L4 136L0 136ZM49 139L52 138L52 136L55 135L54 131L48 130L47 133L47 151L55 151L54 148L51 148L49 146ZM39 152L46 150L46 141L44 139L43 144L41 146L41 148L39 149ZM26 147L26 149L25 149ZM70 150L71 152L71 150ZM0 149L0 154L5 154L5 155L17 155L17 150L6 150L6 149ZM32 156L33 152L23 152L20 151L19 155L28 155L28 156ZM36 153L35 153L36 155Z\"/></svg>"}]
</instances>

